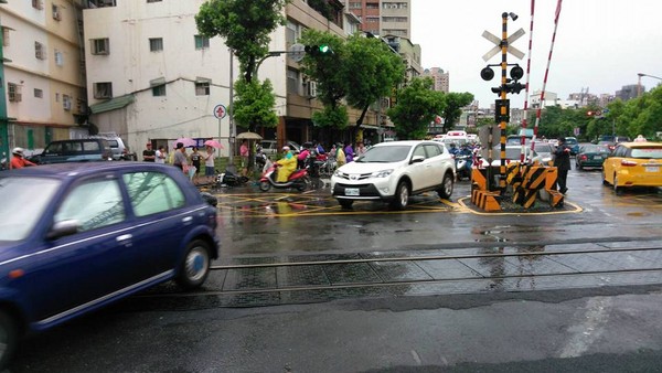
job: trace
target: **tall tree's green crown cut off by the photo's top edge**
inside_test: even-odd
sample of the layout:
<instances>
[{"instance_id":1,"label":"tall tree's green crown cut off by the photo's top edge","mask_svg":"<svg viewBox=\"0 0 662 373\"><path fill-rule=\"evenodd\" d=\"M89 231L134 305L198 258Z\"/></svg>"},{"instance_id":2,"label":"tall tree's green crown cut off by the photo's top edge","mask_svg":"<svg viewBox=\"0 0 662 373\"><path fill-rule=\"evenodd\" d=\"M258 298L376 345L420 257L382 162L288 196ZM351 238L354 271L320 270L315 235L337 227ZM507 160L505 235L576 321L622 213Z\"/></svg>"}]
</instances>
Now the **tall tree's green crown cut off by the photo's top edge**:
<instances>
[{"instance_id":1,"label":"tall tree's green crown cut off by the photo's top edge","mask_svg":"<svg viewBox=\"0 0 662 373\"><path fill-rule=\"evenodd\" d=\"M289 0L207 0L195 15L197 31L222 36L250 82L257 60L267 55L270 33L285 24L282 9Z\"/></svg>"}]
</instances>

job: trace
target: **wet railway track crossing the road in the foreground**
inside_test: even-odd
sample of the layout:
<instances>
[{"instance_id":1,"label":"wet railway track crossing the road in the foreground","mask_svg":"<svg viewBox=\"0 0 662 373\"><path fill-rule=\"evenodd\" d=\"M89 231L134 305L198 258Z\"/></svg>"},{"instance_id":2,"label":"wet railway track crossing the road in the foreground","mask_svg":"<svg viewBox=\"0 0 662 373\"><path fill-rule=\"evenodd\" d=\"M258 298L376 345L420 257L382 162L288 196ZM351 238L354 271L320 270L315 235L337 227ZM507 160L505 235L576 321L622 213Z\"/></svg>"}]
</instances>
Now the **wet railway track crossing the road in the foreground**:
<instances>
[{"instance_id":1,"label":"wet railway track crossing the road in the foreground","mask_svg":"<svg viewBox=\"0 0 662 373\"><path fill-rule=\"evenodd\" d=\"M245 258L241 262L246 263L213 266L207 284L199 291L161 287L136 298L197 298L214 307L250 307L356 297L662 284L660 242L636 245L573 244L543 249L511 244L508 248L329 255L321 259Z\"/></svg>"}]
</instances>

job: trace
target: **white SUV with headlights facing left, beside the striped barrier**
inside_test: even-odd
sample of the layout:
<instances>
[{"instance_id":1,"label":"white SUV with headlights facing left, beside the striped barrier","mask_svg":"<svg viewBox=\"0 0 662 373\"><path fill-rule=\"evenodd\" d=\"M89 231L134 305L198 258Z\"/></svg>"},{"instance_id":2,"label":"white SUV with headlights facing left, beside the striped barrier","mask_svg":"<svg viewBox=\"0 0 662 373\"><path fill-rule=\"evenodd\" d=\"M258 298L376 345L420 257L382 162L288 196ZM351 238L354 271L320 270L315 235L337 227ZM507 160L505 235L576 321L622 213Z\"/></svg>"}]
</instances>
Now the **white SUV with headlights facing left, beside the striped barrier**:
<instances>
[{"instance_id":1,"label":"white SUV with headlights facing left, beside the striped barrier","mask_svg":"<svg viewBox=\"0 0 662 373\"><path fill-rule=\"evenodd\" d=\"M437 141L377 143L331 177L331 191L343 207L354 201L391 202L404 210L413 194L437 191L449 199L456 180L455 160Z\"/></svg>"}]
</instances>

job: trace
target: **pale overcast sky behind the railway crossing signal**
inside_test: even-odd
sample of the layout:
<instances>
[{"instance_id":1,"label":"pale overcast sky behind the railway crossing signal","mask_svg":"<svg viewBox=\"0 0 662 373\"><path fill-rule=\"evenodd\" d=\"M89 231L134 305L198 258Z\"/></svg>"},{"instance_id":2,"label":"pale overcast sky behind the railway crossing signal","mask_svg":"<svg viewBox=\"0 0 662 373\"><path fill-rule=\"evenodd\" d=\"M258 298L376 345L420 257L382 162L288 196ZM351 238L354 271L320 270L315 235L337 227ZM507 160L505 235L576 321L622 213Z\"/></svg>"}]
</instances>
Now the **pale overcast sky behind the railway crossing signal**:
<instances>
[{"instance_id":1,"label":"pale overcast sky behind the railway crossing signal","mask_svg":"<svg viewBox=\"0 0 662 373\"><path fill-rule=\"evenodd\" d=\"M520 63L526 78L531 0L413 0L412 42L420 44L423 67L441 67L450 73L450 92L470 92L480 107L498 98L490 88L500 84L501 71L490 82L480 78L488 63L501 62L501 53L482 60L494 46L482 38L484 30L501 39L501 14L509 19L508 34L524 29L512 45L525 53ZM557 0L535 1L530 93L542 89L554 32ZM566 99L589 88L591 94L615 94L623 85L637 84L638 73L662 77L662 1L660 0L566 0L563 1L546 92ZM522 82L524 83L524 82ZM642 77L649 90L662 83ZM524 89L509 95L511 107L524 106ZM531 106L531 103L530 103Z\"/></svg>"}]
</instances>

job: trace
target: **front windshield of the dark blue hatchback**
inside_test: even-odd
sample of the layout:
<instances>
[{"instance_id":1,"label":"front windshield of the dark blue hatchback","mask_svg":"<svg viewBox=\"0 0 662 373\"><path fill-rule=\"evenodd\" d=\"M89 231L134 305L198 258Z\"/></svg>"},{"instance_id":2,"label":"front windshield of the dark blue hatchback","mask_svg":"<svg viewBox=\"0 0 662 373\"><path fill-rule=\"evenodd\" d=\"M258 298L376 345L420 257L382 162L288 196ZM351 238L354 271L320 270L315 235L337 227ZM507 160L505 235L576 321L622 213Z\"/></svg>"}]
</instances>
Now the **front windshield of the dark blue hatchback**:
<instances>
[{"instance_id":1,"label":"front windshield of the dark blue hatchback","mask_svg":"<svg viewBox=\"0 0 662 373\"><path fill-rule=\"evenodd\" d=\"M0 241L25 239L58 186L55 179L0 178Z\"/></svg>"}]
</instances>

